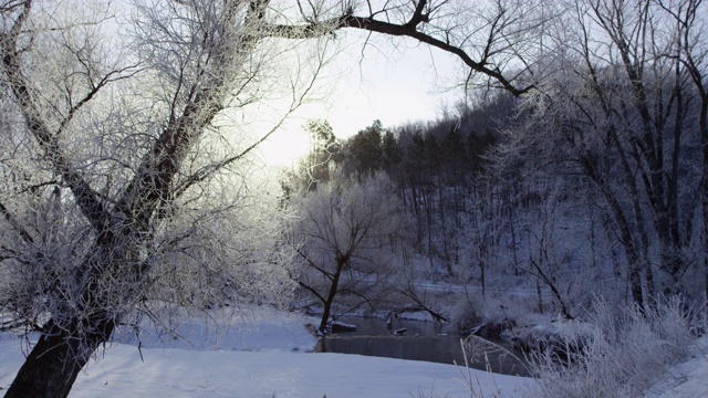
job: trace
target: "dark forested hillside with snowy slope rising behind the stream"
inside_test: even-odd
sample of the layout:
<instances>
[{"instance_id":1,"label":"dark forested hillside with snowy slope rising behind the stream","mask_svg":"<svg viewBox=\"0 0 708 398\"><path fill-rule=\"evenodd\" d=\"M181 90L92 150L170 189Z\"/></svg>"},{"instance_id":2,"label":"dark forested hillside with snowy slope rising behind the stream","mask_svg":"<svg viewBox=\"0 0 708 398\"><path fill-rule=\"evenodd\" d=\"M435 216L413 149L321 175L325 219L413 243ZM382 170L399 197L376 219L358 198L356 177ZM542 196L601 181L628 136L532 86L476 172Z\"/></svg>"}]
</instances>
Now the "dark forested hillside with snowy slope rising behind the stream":
<instances>
[{"instance_id":1,"label":"dark forested hillside with snowy slope rising behind the stream","mask_svg":"<svg viewBox=\"0 0 708 398\"><path fill-rule=\"evenodd\" d=\"M650 115L663 124L647 132L637 125L639 107L600 94L568 105L575 88L558 88L555 98L492 95L431 122L375 121L346 140L312 121L312 150L284 187L312 195L336 185L341 192L352 179L385 175L406 227L395 243L381 243L397 260L381 261L400 262L414 279L445 279L480 294L529 292L535 308L566 317L597 295L641 304L671 294L700 300L700 146L688 112L695 93L683 94L680 113ZM628 81L607 90L632 93ZM670 96L652 94L655 102ZM553 108L560 103L565 108ZM617 109L605 117L602 106ZM659 165L649 161L649 147L663 156Z\"/></svg>"}]
</instances>

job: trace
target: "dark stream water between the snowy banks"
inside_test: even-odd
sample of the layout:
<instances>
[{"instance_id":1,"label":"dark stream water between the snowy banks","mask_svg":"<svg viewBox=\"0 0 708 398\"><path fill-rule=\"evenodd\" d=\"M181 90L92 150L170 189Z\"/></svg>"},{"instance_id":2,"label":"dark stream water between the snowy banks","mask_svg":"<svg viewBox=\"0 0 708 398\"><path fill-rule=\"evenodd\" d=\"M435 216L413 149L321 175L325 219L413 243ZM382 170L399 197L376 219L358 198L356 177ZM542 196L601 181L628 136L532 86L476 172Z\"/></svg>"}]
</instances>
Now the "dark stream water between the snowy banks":
<instances>
[{"instance_id":1,"label":"dark stream water between the snowy banks","mask_svg":"<svg viewBox=\"0 0 708 398\"><path fill-rule=\"evenodd\" d=\"M391 328L387 328L385 322L379 318L347 317L340 321L356 325L356 332L330 334L320 341L316 352L465 365L465 355L460 346L462 336L450 331L449 327L436 327L429 322L404 320L396 320ZM406 328L406 334L395 335L394 331L400 328ZM513 352L506 342L494 343L523 358L523 354ZM489 350L487 357L493 373L529 376L523 365L509 355L499 350ZM470 367L487 370L487 362L480 358L471 362Z\"/></svg>"}]
</instances>

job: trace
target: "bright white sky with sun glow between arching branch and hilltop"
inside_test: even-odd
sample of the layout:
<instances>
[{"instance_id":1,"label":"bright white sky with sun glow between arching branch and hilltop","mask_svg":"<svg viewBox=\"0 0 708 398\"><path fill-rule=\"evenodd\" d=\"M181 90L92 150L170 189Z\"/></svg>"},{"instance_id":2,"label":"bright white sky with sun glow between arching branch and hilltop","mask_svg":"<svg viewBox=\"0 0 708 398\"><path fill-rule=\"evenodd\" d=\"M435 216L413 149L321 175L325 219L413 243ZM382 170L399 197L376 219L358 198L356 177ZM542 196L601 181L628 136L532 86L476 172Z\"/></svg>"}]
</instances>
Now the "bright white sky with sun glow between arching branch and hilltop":
<instances>
[{"instance_id":1,"label":"bright white sky with sun glow between arching branch and hilltop","mask_svg":"<svg viewBox=\"0 0 708 398\"><path fill-rule=\"evenodd\" d=\"M412 39L347 30L337 38L341 52L326 73L331 93L303 106L263 146L270 163L288 164L304 154L302 129L309 118L326 119L339 138L347 138L379 119L384 127L433 121L462 97L460 62L454 55Z\"/></svg>"}]
</instances>

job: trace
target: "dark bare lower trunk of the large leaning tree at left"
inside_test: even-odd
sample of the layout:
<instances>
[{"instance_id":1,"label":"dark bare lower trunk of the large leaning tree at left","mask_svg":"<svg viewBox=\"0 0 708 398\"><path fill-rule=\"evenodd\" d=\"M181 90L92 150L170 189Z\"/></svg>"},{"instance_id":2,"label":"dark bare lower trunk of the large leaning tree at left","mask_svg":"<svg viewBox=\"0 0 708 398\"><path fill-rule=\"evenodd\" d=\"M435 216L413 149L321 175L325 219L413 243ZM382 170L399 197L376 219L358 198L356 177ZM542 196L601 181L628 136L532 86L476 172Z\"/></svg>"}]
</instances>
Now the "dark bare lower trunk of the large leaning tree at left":
<instances>
[{"instance_id":1,"label":"dark bare lower trunk of the large leaning tree at left","mask_svg":"<svg viewBox=\"0 0 708 398\"><path fill-rule=\"evenodd\" d=\"M111 336L114 323L103 321L94 326L95 333L80 335L75 327L60 327L50 320L4 397L67 397L91 355Z\"/></svg>"}]
</instances>

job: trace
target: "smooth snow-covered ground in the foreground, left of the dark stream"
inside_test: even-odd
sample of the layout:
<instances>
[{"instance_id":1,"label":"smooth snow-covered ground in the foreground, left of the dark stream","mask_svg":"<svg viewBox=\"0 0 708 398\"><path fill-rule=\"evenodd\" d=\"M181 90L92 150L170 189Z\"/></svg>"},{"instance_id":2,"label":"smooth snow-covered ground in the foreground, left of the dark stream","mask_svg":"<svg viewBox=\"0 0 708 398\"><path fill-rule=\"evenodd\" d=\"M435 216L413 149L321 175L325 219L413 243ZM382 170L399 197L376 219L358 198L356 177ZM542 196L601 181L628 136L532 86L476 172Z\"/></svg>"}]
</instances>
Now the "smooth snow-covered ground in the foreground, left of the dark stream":
<instances>
[{"instance_id":1,"label":"smooth snow-covered ground in the foreground, left of the dark stream","mask_svg":"<svg viewBox=\"0 0 708 398\"><path fill-rule=\"evenodd\" d=\"M254 326L249 326L254 322ZM469 397L455 365L344 354L310 353L316 339L308 320L266 312L212 333L184 325L187 339L157 334L113 343L79 375L70 397ZM27 342L0 335L0 387L23 363ZM142 358L140 358L142 356ZM464 370L460 373L460 370ZM475 370L485 397L516 397L531 379Z\"/></svg>"}]
</instances>

